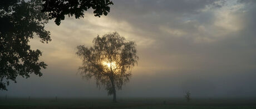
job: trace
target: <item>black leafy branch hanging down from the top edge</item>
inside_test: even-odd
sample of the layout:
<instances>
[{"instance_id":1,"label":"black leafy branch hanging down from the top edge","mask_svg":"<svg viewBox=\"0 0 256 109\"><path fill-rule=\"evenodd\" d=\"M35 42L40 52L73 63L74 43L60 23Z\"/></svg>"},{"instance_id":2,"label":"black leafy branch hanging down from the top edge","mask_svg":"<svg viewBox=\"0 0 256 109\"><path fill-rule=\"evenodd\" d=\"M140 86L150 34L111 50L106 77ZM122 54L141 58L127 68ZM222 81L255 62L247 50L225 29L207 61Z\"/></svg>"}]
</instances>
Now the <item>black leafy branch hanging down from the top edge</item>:
<instances>
[{"instance_id":1,"label":"black leafy branch hanging down from the top edge","mask_svg":"<svg viewBox=\"0 0 256 109\"><path fill-rule=\"evenodd\" d=\"M55 23L60 25L61 20L75 15L75 18L83 17L83 12L92 8L96 17L110 12L110 0L43 0L42 12L47 12L50 19L55 19Z\"/></svg>"}]
</instances>

